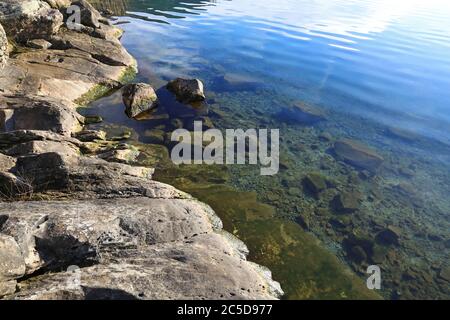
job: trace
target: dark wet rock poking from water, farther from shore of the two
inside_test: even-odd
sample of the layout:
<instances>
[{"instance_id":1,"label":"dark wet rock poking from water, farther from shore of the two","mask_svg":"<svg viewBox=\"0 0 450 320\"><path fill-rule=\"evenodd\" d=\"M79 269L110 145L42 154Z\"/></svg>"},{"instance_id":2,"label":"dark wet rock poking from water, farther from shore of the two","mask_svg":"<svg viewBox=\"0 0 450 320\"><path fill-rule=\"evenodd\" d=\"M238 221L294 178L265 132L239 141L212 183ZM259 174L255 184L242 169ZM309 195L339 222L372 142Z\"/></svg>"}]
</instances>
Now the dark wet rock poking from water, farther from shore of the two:
<instances>
[{"instance_id":1,"label":"dark wet rock poking from water, farther from shore of the two","mask_svg":"<svg viewBox=\"0 0 450 320\"><path fill-rule=\"evenodd\" d=\"M170 81L166 87L176 95L178 101L185 104L201 102L206 99L203 92L203 83L198 79L177 78Z\"/></svg>"}]
</instances>

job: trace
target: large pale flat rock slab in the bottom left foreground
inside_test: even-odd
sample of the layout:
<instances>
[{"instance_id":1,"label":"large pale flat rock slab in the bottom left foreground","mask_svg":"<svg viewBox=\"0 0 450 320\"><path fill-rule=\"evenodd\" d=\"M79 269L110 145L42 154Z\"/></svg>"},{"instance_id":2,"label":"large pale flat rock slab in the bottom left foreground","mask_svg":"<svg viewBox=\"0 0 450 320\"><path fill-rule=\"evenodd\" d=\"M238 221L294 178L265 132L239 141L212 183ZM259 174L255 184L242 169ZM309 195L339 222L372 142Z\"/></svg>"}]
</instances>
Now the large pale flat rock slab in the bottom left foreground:
<instances>
[{"instance_id":1,"label":"large pale flat rock slab in the bottom left foreground","mask_svg":"<svg viewBox=\"0 0 450 320\"><path fill-rule=\"evenodd\" d=\"M39 232L33 248L42 275L21 281L14 299L274 299L282 294L267 269L246 261L248 249L221 230L211 208L193 199L5 203L0 214L9 217L3 226L9 236L22 240ZM69 265L81 268L82 287L64 271Z\"/></svg>"}]
</instances>

